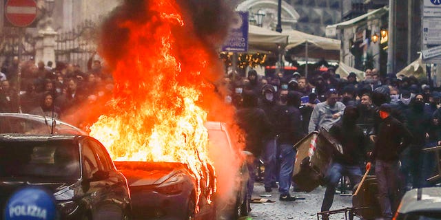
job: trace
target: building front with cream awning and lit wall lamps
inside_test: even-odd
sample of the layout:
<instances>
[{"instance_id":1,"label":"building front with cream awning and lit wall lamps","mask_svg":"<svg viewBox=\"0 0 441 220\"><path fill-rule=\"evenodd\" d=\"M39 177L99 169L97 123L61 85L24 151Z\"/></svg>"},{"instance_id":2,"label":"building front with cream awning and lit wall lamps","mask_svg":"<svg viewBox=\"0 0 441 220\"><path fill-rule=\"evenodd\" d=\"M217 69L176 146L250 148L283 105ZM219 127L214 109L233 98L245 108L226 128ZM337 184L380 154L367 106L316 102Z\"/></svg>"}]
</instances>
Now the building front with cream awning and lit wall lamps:
<instances>
[{"instance_id":1,"label":"building front with cream awning and lit wall lamps","mask_svg":"<svg viewBox=\"0 0 441 220\"><path fill-rule=\"evenodd\" d=\"M327 27L328 37L342 41L340 62L360 70L375 67L385 76L396 74L419 57L422 1L391 2L393 5L386 0L366 0L366 13Z\"/></svg>"}]
</instances>

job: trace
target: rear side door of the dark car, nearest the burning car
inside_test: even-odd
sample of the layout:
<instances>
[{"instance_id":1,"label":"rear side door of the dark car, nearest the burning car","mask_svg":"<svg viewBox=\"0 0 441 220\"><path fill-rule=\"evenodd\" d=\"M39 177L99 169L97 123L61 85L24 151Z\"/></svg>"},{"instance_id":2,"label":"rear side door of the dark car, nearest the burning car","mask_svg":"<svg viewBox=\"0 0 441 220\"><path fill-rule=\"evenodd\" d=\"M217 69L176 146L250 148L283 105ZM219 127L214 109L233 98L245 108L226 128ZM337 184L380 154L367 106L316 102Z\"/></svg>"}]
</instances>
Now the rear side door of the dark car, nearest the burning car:
<instances>
[{"instance_id":1,"label":"rear side door of the dark car, nearest the burning car","mask_svg":"<svg viewBox=\"0 0 441 220\"><path fill-rule=\"evenodd\" d=\"M94 139L90 139L89 142L92 150L96 153L99 164L103 164L103 170L108 173L108 178L105 182L108 194L105 195L105 197L107 201L109 201L109 204L106 207L106 212L112 211L115 216L119 214L119 218L121 218L121 213L124 212L125 206L127 206L127 203L130 201L127 181L125 177L116 170L105 147Z\"/></svg>"}]
</instances>

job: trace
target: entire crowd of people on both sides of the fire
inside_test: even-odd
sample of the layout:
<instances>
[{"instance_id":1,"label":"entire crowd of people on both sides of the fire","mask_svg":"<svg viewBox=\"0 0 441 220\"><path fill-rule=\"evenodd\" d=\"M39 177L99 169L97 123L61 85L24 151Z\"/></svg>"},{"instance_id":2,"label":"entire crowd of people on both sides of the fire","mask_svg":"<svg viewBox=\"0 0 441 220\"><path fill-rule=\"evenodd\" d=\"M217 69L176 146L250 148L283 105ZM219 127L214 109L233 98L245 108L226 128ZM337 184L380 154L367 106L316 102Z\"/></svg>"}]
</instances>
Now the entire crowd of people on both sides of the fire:
<instances>
[{"instance_id":1,"label":"entire crowd of people on both sides of the fire","mask_svg":"<svg viewBox=\"0 0 441 220\"><path fill-rule=\"evenodd\" d=\"M331 208L342 176L357 184L364 169L375 165L384 218L390 219L400 196L410 188L430 186L435 159L422 149L441 144L441 93L417 78L380 74L367 69L364 78L340 78L331 67L308 76L277 73L225 76L225 102L236 109L236 122L246 132L245 148L265 162L265 190L278 188L280 201L294 201L290 188L296 159L293 148L312 131L325 129L343 147L332 155L322 211ZM88 72L79 65L52 68L17 57L3 62L0 112L22 112L66 118L83 104L112 92L112 76L100 61ZM20 91L20 92L19 92ZM74 120L70 120L74 122ZM81 127L81 121L73 123ZM254 164L249 164L254 173ZM254 175L250 175L251 199ZM324 216L324 219L327 217Z\"/></svg>"}]
</instances>

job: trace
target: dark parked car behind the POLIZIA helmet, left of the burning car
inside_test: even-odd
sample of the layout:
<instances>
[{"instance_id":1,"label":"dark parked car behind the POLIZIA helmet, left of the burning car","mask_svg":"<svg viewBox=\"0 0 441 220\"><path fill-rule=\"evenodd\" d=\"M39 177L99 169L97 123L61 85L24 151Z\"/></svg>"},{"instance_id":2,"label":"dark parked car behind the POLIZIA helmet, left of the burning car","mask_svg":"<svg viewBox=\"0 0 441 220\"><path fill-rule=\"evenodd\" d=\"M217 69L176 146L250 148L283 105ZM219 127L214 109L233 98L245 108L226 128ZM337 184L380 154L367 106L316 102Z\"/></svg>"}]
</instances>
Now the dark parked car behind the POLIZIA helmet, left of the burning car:
<instances>
[{"instance_id":1,"label":"dark parked car behind the POLIZIA helmet, left of the burning car","mask_svg":"<svg viewBox=\"0 0 441 220\"><path fill-rule=\"evenodd\" d=\"M19 188L39 186L53 192L61 219L132 216L127 180L86 135L0 135L0 179L0 207Z\"/></svg>"}]
</instances>

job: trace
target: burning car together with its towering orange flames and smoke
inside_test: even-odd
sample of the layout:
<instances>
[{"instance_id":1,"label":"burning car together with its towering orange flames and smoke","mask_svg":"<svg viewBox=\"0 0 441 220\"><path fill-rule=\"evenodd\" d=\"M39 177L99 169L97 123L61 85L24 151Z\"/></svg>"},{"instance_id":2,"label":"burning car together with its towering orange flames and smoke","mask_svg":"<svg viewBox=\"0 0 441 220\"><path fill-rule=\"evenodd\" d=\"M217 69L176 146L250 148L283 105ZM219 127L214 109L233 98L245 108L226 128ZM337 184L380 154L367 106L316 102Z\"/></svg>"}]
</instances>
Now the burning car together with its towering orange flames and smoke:
<instances>
[{"instance_id":1,"label":"burning car together with its towering orange flames and smoke","mask_svg":"<svg viewBox=\"0 0 441 220\"><path fill-rule=\"evenodd\" d=\"M114 87L104 106L88 106L103 110L90 135L126 175L135 218L215 218L217 167L204 123L207 115L233 120L234 109L216 88L224 71L216 48L229 28L222 11L230 8L223 1L194 3L123 1L102 23L99 51ZM199 23L213 13L225 19ZM229 173L236 181L236 172Z\"/></svg>"}]
</instances>

